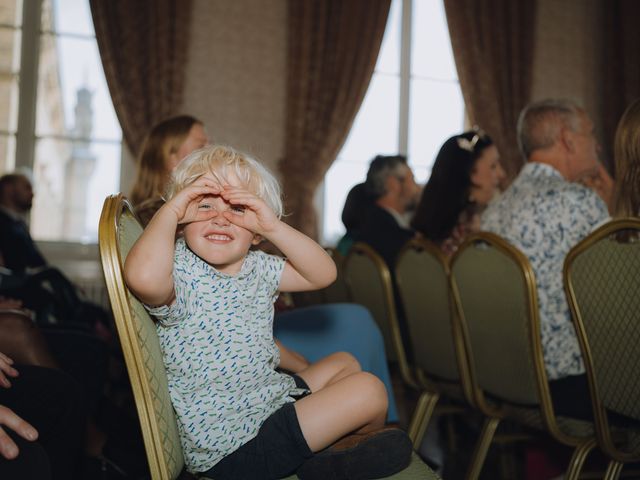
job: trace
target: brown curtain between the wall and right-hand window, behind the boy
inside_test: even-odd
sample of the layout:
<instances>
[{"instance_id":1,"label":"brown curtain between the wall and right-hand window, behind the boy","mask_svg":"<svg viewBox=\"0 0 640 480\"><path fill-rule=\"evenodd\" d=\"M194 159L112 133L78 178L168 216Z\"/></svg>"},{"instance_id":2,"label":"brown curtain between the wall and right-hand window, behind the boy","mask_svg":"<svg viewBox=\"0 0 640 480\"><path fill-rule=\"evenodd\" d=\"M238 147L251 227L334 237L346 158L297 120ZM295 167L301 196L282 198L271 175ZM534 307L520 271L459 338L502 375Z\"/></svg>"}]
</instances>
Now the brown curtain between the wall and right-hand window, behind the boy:
<instances>
[{"instance_id":1,"label":"brown curtain between the wall and right-hand window, behind the boy","mask_svg":"<svg viewBox=\"0 0 640 480\"><path fill-rule=\"evenodd\" d=\"M390 0L288 2L284 179L287 222L317 238L313 195L367 91Z\"/></svg>"}]
</instances>

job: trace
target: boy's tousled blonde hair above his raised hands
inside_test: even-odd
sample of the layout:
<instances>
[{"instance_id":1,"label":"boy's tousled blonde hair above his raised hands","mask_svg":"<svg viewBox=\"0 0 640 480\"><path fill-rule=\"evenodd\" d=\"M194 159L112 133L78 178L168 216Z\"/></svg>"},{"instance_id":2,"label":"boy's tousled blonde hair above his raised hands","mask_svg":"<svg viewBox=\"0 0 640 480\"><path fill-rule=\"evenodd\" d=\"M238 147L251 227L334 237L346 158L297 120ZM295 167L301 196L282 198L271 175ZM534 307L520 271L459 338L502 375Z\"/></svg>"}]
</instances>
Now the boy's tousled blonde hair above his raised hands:
<instances>
[{"instance_id":1,"label":"boy's tousled blonde hair above his raised hands","mask_svg":"<svg viewBox=\"0 0 640 480\"><path fill-rule=\"evenodd\" d=\"M225 145L201 148L180 162L173 171L167 201L206 173L211 173L220 185L229 183L229 173L233 173L242 188L262 199L278 218L282 217L280 184L276 178L256 159Z\"/></svg>"}]
</instances>

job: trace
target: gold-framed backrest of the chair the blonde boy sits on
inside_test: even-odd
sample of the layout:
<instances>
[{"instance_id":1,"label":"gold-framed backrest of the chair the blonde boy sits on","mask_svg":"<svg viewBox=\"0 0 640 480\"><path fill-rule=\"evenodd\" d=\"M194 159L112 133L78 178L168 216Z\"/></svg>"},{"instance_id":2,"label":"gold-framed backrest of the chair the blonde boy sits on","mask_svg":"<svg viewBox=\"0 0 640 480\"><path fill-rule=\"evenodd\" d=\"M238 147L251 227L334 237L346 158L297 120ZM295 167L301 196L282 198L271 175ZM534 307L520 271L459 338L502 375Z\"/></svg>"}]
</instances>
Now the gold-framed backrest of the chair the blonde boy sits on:
<instances>
[{"instance_id":1,"label":"gold-framed backrest of the chair the blonde boy sits on","mask_svg":"<svg viewBox=\"0 0 640 480\"><path fill-rule=\"evenodd\" d=\"M180 475L184 457L153 320L126 287L124 261L142 233L122 194L107 197L99 226L100 258L154 480Z\"/></svg>"}]
</instances>

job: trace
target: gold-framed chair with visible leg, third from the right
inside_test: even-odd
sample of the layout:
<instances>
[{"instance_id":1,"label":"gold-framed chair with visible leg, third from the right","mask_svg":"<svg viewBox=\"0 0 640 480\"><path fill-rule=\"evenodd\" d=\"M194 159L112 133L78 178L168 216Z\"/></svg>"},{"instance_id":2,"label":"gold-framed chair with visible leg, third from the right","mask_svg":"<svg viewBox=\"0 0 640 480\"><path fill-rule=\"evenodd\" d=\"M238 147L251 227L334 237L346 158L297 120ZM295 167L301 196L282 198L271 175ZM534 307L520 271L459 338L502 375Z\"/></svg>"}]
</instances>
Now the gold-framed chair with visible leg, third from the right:
<instances>
[{"instance_id":1,"label":"gold-framed chair with visible leg, third from the right","mask_svg":"<svg viewBox=\"0 0 640 480\"><path fill-rule=\"evenodd\" d=\"M417 446L441 396L457 402L442 407L441 413L467 411L468 367L458 322L453 322L449 262L442 251L428 240L410 240L398 255L395 272L421 388L409 426Z\"/></svg>"}]
</instances>

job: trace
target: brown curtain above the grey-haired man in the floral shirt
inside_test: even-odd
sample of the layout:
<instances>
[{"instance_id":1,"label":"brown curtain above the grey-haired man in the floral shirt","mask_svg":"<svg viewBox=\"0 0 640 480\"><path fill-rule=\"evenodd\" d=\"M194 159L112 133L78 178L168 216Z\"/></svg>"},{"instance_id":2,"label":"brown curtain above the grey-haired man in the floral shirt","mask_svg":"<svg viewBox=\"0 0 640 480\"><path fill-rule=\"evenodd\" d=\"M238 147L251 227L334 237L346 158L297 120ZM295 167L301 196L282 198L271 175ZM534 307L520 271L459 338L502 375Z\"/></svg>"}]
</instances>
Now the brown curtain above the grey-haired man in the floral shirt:
<instances>
[{"instance_id":1,"label":"brown curtain above the grey-haired man in the floral shirt","mask_svg":"<svg viewBox=\"0 0 640 480\"><path fill-rule=\"evenodd\" d=\"M467 113L493 138L509 181L524 163L516 122L531 96L536 1L444 0L444 5Z\"/></svg>"}]
</instances>

